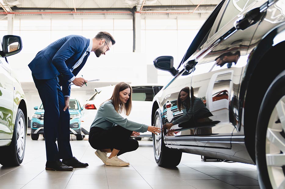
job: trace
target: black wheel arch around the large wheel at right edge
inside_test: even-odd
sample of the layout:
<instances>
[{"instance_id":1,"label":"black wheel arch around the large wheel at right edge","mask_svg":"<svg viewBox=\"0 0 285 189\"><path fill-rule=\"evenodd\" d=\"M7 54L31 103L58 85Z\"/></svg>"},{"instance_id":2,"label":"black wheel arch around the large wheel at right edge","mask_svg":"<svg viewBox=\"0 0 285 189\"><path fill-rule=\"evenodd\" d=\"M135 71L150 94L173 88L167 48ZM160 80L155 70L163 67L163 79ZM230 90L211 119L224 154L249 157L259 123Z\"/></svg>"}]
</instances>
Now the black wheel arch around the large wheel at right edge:
<instances>
[{"instance_id":1,"label":"black wheel arch around the large wheel at right edge","mask_svg":"<svg viewBox=\"0 0 285 189\"><path fill-rule=\"evenodd\" d=\"M239 115L242 115L243 107L246 107L244 118L241 118L244 119L245 126L244 141L254 162L256 123L260 105L269 85L285 69L285 64L280 63L283 59L282 49L285 48L285 39L280 36L284 34L285 24L276 27L262 38L249 55L248 66L241 82ZM241 121L239 124L241 126Z\"/></svg>"}]
</instances>

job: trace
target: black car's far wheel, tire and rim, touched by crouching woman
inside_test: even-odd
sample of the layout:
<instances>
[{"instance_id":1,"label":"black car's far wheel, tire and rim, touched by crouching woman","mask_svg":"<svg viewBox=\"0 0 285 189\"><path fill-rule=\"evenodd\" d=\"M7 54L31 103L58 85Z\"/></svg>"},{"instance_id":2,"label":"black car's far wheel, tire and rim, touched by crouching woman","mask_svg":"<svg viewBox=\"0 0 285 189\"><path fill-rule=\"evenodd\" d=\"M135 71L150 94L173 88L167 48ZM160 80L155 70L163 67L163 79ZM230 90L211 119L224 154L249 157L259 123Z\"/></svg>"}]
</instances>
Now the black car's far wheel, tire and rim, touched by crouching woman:
<instances>
[{"instance_id":1,"label":"black car's far wheel, tire and rim, touched by crouching woman","mask_svg":"<svg viewBox=\"0 0 285 189\"><path fill-rule=\"evenodd\" d=\"M163 141L163 128L159 109L155 112L153 123L155 127L161 128L158 135L152 134L154 159L158 166L175 167L181 161L182 152L165 146Z\"/></svg>"}]
</instances>

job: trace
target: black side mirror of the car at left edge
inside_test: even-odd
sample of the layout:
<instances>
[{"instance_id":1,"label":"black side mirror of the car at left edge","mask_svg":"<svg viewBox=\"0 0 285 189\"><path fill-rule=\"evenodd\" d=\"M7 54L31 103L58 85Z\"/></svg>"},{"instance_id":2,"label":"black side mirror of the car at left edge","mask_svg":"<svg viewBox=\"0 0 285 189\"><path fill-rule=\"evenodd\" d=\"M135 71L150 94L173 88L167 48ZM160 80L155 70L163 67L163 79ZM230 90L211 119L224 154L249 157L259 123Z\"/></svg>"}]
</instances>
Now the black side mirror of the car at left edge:
<instances>
[{"instance_id":1,"label":"black side mirror of the car at left edge","mask_svg":"<svg viewBox=\"0 0 285 189\"><path fill-rule=\"evenodd\" d=\"M2 40L2 49L0 54L2 57L11 56L20 52L23 48L22 39L16 35L5 35Z\"/></svg>"}]
</instances>

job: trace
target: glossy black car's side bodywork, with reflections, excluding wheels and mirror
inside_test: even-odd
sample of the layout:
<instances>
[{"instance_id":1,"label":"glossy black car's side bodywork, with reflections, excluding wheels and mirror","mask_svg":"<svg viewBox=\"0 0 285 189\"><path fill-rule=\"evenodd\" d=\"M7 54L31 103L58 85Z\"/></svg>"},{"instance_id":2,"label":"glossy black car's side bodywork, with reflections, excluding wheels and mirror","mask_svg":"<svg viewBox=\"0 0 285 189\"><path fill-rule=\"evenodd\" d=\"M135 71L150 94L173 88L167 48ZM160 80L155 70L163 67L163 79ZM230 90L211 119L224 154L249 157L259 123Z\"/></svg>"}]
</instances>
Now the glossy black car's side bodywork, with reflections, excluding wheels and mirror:
<instances>
[{"instance_id":1,"label":"glossy black car's side bodywork, with reflections, excluding wheels and mirror","mask_svg":"<svg viewBox=\"0 0 285 189\"><path fill-rule=\"evenodd\" d=\"M198 32L177 68L179 73L155 96L153 109L158 105L163 124L185 115L189 118L164 127L164 143L169 148L254 164L258 104L267 83L284 70L282 65L275 69L262 61L284 44L285 7L282 1L247 2L222 1L216 7L201 27L208 30ZM183 70L188 62L195 62L194 68ZM259 70L266 79L255 94L254 81L262 77ZM191 100L179 111L184 87L193 94L189 91Z\"/></svg>"}]
</instances>

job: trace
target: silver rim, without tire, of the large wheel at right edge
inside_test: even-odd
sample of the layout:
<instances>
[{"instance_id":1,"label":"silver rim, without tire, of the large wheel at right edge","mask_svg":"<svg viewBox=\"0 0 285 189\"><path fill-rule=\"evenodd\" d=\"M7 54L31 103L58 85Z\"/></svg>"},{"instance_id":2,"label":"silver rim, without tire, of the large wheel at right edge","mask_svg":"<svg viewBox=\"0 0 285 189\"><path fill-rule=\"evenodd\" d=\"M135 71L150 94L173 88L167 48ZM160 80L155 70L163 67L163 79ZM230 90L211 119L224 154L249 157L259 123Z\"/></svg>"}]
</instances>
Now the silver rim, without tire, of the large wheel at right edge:
<instances>
[{"instance_id":1,"label":"silver rim, without tire, of the large wheel at right edge","mask_svg":"<svg viewBox=\"0 0 285 189\"><path fill-rule=\"evenodd\" d=\"M275 105L266 131L266 164L275 189L285 188L285 95Z\"/></svg>"}]
</instances>

